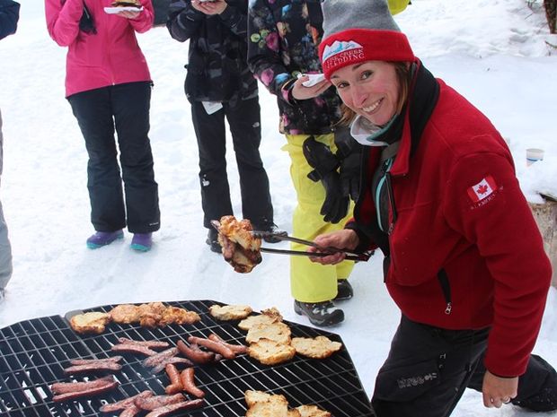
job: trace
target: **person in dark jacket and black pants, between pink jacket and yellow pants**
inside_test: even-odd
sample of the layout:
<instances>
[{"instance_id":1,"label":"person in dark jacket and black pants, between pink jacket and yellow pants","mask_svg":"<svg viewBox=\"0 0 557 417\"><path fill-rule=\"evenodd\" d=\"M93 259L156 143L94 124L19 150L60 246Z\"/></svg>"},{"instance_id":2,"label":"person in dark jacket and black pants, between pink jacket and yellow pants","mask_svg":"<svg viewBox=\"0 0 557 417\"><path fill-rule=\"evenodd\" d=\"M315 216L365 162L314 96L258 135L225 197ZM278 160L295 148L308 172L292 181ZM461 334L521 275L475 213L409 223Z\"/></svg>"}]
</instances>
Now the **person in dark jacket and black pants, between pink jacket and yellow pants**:
<instances>
[{"instance_id":1,"label":"person in dark jacket and black pants, between pink jacket and yellow pants","mask_svg":"<svg viewBox=\"0 0 557 417\"><path fill-rule=\"evenodd\" d=\"M243 218L256 230L275 230L269 178L263 168L257 81L247 59L247 1L173 0L167 27L190 40L185 91L198 140L203 226L209 248L221 252L211 220L233 214L226 174L225 119L230 126Z\"/></svg>"}]
</instances>

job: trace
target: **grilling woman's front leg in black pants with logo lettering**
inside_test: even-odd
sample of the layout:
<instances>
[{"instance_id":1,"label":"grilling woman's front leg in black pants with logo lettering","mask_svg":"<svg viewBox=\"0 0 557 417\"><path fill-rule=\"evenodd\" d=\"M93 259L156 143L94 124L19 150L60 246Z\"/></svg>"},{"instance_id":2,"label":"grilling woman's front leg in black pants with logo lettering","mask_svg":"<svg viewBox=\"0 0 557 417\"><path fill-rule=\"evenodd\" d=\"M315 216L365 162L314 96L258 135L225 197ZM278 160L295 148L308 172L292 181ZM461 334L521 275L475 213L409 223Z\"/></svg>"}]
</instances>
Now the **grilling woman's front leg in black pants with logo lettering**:
<instances>
[{"instance_id":1,"label":"grilling woman's front leg in black pants with logo lettering","mask_svg":"<svg viewBox=\"0 0 557 417\"><path fill-rule=\"evenodd\" d=\"M464 393L489 329L444 330L402 317L376 378L377 417L446 417Z\"/></svg>"}]
</instances>

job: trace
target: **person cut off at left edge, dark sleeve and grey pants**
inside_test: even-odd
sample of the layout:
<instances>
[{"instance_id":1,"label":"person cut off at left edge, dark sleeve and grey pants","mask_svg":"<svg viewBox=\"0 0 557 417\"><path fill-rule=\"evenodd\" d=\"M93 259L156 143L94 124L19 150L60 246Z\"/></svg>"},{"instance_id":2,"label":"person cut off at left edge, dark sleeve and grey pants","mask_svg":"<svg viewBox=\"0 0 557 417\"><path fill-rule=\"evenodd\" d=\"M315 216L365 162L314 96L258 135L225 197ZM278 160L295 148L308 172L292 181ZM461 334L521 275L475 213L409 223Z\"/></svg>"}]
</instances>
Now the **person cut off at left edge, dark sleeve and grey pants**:
<instances>
[{"instance_id":1,"label":"person cut off at left edge, dark sleeve and grey pants","mask_svg":"<svg viewBox=\"0 0 557 417\"><path fill-rule=\"evenodd\" d=\"M12 35L17 30L20 4L12 0L0 0L0 39ZM0 178L4 163L4 135L2 135L2 113L0 113ZM4 210L0 202L0 300L4 299L5 286L12 278L12 246L8 239L8 229L4 220Z\"/></svg>"}]
</instances>

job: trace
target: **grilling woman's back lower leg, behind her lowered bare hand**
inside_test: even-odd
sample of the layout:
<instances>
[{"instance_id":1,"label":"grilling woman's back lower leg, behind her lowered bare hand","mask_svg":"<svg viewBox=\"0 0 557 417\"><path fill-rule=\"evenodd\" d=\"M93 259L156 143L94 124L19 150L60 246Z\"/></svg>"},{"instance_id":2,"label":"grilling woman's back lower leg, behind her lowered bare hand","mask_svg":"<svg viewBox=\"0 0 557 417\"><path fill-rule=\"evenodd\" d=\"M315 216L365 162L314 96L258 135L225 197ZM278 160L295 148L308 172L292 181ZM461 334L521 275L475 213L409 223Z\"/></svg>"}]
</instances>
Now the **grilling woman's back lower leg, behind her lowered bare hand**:
<instances>
[{"instance_id":1,"label":"grilling woman's back lower leg, behind her lowered bare hand","mask_svg":"<svg viewBox=\"0 0 557 417\"><path fill-rule=\"evenodd\" d=\"M485 352L484 352L485 353ZM468 387L482 392L483 354L478 361ZM547 361L537 355L530 355L526 372L518 378L517 396L512 404L535 411L552 412L557 410L557 372Z\"/></svg>"}]
</instances>

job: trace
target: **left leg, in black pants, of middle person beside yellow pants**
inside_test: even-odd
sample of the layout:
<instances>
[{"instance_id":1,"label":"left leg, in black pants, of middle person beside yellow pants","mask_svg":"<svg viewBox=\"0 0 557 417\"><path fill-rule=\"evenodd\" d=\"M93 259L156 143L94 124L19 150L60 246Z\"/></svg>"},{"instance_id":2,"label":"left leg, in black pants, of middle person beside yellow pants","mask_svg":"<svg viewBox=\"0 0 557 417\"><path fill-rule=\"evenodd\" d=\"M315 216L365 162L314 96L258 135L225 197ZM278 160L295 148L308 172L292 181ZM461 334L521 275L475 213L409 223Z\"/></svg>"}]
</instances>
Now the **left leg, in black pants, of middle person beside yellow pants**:
<instances>
[{"instance_id":1,"label":"left leg, in black pants, of middle person beside yellow pants","mask_svg":"<svg viewBox=\"0 0 557 417\"><path fill-rule=\"evenodd\" d=\"M203 104L195 101L191 120L198 140L203 226L212 230L211 220L233 214L226 173L225 110L208 115Z\"/></svg>"}]
</instances>

